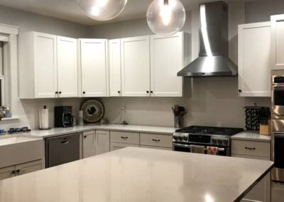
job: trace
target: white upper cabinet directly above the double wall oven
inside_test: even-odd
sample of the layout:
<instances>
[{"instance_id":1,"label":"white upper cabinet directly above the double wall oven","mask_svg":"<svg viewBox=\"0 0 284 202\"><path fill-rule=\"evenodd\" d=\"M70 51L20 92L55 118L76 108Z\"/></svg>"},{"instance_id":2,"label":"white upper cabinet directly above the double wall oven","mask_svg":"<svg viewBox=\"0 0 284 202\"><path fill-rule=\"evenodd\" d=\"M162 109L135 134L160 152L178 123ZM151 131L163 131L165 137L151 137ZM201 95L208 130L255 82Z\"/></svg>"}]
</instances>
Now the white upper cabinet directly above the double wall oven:
<instances>
[{"instance_id":1,"label":"white upper cabinet directly above the double wall oven","mask_svg":"<svg viewBox=\"0 0 284 202\"><path fill-rule=\"evenodd\" d=\"M284 14L271 16L272 70L284 70Z\"/></svg>"}]
</instances>

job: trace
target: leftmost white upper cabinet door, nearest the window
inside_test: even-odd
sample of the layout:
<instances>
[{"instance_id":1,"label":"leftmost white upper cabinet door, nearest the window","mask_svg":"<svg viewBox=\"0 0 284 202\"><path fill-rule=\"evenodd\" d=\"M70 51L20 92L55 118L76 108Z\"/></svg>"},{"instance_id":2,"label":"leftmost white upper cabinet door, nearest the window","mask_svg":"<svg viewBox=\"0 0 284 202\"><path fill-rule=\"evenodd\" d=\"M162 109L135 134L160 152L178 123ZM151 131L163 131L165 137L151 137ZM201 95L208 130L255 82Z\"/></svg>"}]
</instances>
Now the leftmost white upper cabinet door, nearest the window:
<instances>
[{"instance_id":1,"label":"leftmost white upper cabinet door, nearest the window","mask_svg":"<svg viewBox=\"0 0 284 202\"><path fill-rule=\"evenodd\" d=\"M57 97L56 36L34 33L35 98Z\"/></svg>"}]
</instances>

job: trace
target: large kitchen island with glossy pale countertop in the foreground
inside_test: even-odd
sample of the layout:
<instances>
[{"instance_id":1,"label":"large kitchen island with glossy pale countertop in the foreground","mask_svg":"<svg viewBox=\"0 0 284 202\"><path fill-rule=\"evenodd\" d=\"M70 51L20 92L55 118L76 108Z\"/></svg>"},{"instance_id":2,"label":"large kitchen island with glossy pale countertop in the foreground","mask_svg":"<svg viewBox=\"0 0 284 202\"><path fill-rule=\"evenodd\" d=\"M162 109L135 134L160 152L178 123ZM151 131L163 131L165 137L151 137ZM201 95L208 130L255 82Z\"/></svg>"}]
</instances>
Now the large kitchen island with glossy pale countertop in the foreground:
<instances>
[{"instance_id":1,"label":"large kitchen island with glossy pale countertop in the foreground","mask_svg":"<svg viewBox=\"0 0 284 202\"><path fill-rule=\"evenodd\" d=\"M128 147L0 181L0 201L240 201L272 166Z\"/></svg>"}]
</instances>

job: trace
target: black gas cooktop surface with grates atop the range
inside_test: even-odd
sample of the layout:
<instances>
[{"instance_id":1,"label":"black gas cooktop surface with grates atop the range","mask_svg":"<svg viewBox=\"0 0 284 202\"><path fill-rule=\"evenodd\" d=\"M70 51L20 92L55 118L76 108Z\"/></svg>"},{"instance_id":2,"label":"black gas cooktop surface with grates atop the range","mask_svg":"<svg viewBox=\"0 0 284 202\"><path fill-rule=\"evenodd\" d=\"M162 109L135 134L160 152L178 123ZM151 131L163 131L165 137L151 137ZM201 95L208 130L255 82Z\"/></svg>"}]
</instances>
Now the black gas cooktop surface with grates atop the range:
<instances>
[{"instance_id":1,"label":"black gas cooktop surface with grates atop the range","mask_svg":"<svg viewBox=\"0 0 284 202\"><path fill-rule=\"evenodd\" d=\"M181 129L175 130L175 132L189 133L189 134L218 134L232 136L239 132L244 131L242 128L233 127L207 127L207 126L190 126L183 127Z\"/></svg>"}]
</instances>

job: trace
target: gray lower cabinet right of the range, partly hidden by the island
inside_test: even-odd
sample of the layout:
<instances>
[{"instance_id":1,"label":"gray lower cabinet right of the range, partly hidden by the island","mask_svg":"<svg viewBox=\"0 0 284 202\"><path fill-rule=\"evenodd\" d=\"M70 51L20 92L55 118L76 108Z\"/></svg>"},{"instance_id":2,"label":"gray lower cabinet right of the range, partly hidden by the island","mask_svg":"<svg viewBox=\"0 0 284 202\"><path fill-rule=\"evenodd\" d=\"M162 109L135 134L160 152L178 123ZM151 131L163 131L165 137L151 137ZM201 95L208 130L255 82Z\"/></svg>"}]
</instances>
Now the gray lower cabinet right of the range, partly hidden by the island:
<instances>
[{"instance_id":1,"label":"gray lower cabinet right of the range, partly hidden by the island","mask_svg":"<svg viewBox=\"0 0 284 202\"><path fill-rule=\"evenodd\" d=\"M248 159L261 159L270 160L271 157L271 144L270 142L257 142L257 141L244 141L234 140L231 141L231 156L248 158ZM271 174L268 173L256 186L244 197L244 201L262 201L271 202Z\"/></svg>"}]
</instances>

